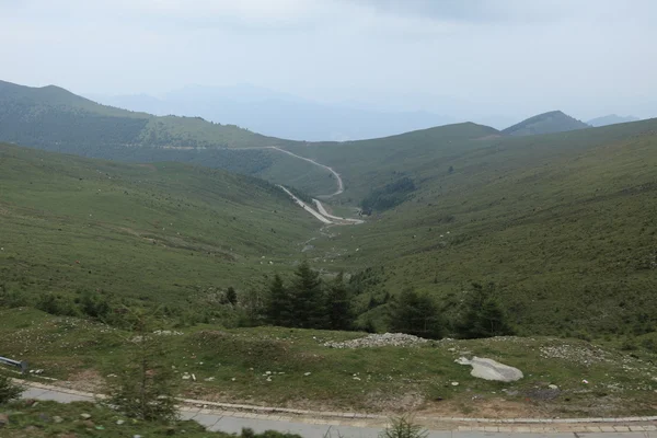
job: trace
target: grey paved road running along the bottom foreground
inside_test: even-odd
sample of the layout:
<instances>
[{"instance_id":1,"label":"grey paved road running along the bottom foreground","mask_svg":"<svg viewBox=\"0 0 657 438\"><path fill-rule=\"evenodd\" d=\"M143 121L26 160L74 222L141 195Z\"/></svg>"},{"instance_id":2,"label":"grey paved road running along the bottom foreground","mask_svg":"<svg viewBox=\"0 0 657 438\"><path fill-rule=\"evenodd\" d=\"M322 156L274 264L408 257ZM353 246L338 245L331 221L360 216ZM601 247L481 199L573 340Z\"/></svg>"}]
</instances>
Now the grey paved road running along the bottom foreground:
<instances>
[{"instance_id":1,"label":"grey paved road running along the bottom foreground","mask_svg":"<svg viewBox=\"0 0 657 438\"><path fill-rule=\"evenodd\" d=\"M70 402L94 402L90 394L72 394L45 388L28 388L23 392L24 399L51 400L59 403ZM286 418L286 419L263 419L255 418L256 414L221 412L201 410L199 407L181 408L181 418L193 419L205 426L208 430L222 430L227 433L240 433L243 427L250 427L256 433L265 430L278 430L281 433L290 431L299 434L304 438L377 438L380 428L368 427L367 425L345 425L339 420L320 420L308 418ZM319 424L323 423L323 424ZM331 435L326 435L330 431ZM452 431L452 430L430 430L428 438L657 438L655 431L625 431L625 433L495 433L495 431Z\"/></svg>"}]
</instances>

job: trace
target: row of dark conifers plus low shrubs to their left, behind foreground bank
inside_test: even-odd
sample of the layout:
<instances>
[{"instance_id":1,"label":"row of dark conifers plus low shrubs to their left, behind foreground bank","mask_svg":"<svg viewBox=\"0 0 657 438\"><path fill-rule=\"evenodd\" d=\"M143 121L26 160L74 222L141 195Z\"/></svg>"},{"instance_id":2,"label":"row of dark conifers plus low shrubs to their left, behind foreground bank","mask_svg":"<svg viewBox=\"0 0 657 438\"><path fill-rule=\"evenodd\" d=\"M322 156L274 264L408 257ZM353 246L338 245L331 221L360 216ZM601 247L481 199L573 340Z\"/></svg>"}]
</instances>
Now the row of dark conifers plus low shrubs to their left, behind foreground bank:
<instances>
[{"instance_id":1,"label":"row of dark conifers plus low shrubs to their left, behind foreground bank","mask_svg":"<svg viewBox=\"0 0 657 438\"><path fill-rule=\"evenodd\" d=\"M13 296L0 293L0 304ZM14 304L25 306L23 301ZM126 312L145 303L118 300L99 292L76 296L43 293L34 303L50 314L85 316L115 326L129 325ZM14 306L9 306L14 307ZM276 275L265 290L240 292L229 287L208 299L203 309L185 313L173 304L159 307L162 316L176 325L221 321L228 326L276 325L319 330L388 330L425 338L457 336L479 338L514 333L494 284L472 284L462 299L437 301L412 288L390 295L379 276L368 269L345 281L343 274L323 280L308 262L288 281Z\"/></svg>"}]
</instances>

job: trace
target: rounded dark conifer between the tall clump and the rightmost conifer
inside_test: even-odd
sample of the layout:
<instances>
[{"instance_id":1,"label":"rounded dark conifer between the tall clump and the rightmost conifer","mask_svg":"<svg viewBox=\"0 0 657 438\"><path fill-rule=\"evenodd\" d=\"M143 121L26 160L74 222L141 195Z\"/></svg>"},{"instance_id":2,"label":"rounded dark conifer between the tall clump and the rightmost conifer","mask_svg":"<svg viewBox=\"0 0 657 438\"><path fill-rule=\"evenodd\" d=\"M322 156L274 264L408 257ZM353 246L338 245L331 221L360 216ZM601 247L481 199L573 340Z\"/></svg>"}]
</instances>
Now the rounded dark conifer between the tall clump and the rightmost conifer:
<instances>
[{"instance_id":1,"label":"rounded dark conifer between the tall clump and the rightmost conifer","mask_svg":"<svg viewBox=\"0 0 657 438\"><path fill-rule=\"evenodd\" d=\"M407 288L390 303L390 328L395 332L437 339L442 326L438 306L425 293Z\"/></svg>"}]
</instances>

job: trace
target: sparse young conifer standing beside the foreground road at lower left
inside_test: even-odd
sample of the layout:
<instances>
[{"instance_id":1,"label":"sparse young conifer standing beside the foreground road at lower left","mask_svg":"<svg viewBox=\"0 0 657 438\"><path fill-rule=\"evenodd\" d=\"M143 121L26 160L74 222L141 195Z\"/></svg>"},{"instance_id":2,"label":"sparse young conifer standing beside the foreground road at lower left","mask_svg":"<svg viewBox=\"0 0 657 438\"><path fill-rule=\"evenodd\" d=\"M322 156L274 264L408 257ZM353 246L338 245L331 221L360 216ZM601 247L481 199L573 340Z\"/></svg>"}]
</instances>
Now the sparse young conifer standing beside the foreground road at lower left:
<instances>
[{"instance_id":1,"label":"sparse young conifer standing beside the foreground road at lower left","mask_svg":"<svg viewBox=\"0 0 657 438\"><path fill-rule=\"evenodd\" d=\"M108 381L106 404L125 415L142 420L170 420L176 417L176 380L163 364L164 343L152 333L152 320L132 312L132 333L126 339L128 353L117 377Z\"/></svg>"}]
</instances>

